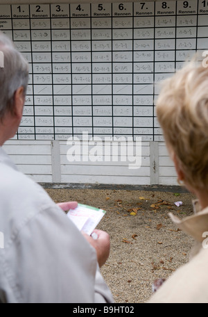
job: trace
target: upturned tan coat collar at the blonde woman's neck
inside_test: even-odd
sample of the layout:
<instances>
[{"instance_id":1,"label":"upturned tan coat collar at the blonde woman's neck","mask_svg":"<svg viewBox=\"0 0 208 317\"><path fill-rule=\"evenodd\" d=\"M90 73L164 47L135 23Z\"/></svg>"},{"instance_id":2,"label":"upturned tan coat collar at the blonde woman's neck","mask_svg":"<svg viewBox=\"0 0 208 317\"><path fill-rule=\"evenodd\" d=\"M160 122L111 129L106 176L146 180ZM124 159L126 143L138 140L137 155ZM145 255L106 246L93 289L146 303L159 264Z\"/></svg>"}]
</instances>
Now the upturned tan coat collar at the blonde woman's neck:
<instances>
[{"instance_id":1,"label":"upturned tan coat collar at the blonde woman's neck","mask_svg":"<svg viewBox=\"0 0 208 317\"><path fill-rule=\"evenodd\" d=\"M195 213L193 216L182 220L173 213L169 213L169 216L178 228L193 236L196 241L202 242L205 240L205 236L203 237L202 234L208 232L208 207L202 210L198 200L193 200L193 210Z\"/></svg>"}]
</instances>

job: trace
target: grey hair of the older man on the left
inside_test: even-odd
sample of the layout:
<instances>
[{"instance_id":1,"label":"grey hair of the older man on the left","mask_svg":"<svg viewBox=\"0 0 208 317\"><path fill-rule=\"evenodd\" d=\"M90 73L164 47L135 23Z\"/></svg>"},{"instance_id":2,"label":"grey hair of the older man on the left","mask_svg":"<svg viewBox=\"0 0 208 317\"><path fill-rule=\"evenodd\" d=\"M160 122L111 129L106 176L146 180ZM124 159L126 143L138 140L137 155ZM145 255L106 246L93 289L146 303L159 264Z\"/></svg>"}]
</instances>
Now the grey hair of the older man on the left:
<instances>
[{"instance_id":1,"label":"grey hair of the older man on the left","mask_svg":"<svg viewBox=\"0 0 208 317\"><path fill-rule=\"evenodd\" d=\"M0 120L10 111L13 111L13 99L19 87L26 88L28 85L28 63L15 49L12 41L0 32Z\"/></svg>"}]
</instances>

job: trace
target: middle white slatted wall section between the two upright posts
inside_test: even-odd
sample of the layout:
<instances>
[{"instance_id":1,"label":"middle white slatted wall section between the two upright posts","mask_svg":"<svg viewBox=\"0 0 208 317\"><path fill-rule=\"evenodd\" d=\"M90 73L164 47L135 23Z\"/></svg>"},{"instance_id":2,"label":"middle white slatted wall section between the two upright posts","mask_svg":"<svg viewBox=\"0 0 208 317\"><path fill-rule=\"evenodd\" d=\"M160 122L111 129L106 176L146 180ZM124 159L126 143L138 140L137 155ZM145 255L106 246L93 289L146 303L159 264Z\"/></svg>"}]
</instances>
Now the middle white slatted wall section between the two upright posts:
<instances>
[{"instance_id":1,"label":"middle white slatted wall section between the two upright posts","mask_svg":"<svg viewBox=\"0 0 208 317\"><path fill-rule=\"evenodd\" d=\"M128 159L128 152L126 156L121 157L118 155L112 156L113 147L116 154L116 149L118 149L118 154L121 153L123 149L125 154L125 149L127 149L126 143L109 143L109 142L80 142L76 143L80 145L81 154L86 153L86 147L88 153L92 149L96 149L98 152L103 154L99 158L101 161L91 162L89 156L82 155L80 157L80 162L69 162L67 159L67 152L73 146L71 144L67 145L66 142L60 141L60 162L62 171L62 182L74 183L92 183L92 184L150 184L150 149L149 143L142 143L141 148L141 168L137 170L130 170L129 164L132 163ZM118 148L116 148L118 145ZM130 143L129 143L130 145ZM134 148L134 154L136 153L136 143L132 143ZM106 146L106 147L105 147ZM137 152L138 153L138 152ZM85 162L87 161L87 162Z\"/></svg>"}]
</instances>

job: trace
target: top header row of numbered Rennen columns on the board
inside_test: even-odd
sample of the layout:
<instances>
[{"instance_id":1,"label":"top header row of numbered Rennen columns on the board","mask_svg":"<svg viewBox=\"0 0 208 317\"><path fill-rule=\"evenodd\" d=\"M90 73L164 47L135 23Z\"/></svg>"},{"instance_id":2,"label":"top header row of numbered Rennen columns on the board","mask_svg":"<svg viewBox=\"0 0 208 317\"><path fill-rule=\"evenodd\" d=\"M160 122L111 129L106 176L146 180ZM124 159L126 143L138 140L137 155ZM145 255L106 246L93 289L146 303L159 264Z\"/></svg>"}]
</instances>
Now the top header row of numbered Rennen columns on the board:
<instances>
[{"instance_id":1,"label":"top header row of numbered Rennen columns on the board","mask_svg":"<svg viewBox=\"0 0 208 317\"><path fill-rule=\"evenodd\" d=\"M55 17L131 17L151 15L196 15L208 13L208 0L135 3L21 4L0 5L0 19Z\"/></svg>"}]
</instances>

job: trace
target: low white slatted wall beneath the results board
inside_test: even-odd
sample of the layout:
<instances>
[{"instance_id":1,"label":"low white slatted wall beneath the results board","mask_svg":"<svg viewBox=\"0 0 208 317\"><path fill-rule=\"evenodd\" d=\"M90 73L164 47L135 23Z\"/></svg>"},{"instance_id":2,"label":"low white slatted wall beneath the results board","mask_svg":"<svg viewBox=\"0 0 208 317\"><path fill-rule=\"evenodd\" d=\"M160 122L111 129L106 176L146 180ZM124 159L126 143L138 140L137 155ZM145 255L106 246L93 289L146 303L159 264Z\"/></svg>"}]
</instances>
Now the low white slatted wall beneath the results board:
<instances>
[{"instance_id":1,"label":"low white slatted wall beneath the results board","mask_svg":"<svg viewBox=\"0 0 208 317\"><path fill-rule=\"evenodd\" d=\"M21 172L40 183L177 185L164 143L142 143L139 169L130 169L129 162L120 158L116 161L111 149L101 162L87 161L86 157L69 162L70 147L64 141L9 140L3 149ZM89 151L91 148L89 145Z\"/></svg>"}]
</instances>

